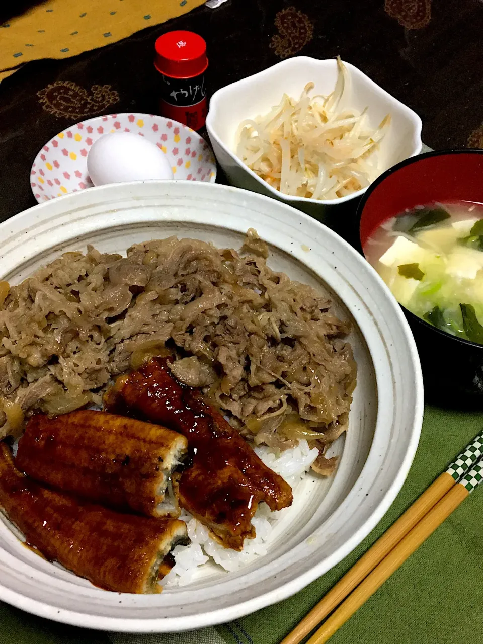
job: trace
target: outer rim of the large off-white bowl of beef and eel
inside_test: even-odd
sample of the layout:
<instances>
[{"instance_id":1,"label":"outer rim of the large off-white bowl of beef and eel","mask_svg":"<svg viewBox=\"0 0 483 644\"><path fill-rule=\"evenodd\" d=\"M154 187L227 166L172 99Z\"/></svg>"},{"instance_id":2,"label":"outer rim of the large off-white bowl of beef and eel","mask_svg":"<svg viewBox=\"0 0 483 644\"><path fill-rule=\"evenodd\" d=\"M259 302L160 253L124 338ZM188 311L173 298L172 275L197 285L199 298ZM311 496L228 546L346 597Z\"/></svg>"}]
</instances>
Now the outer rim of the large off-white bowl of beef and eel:
<instances>
[{"instance_id":1,"label":"outer rim of the large off-white bowl of beef and eel","mask_svg":"<svg viewBox=\"0 0 483 644\"><path fill-rule=\"evenodd\" d=\"M185 182L182 182L180 180L169 180L169 181L156 181L156 180L149 180L149 181L144 181L144 182L131 182L129 184L120 184L122 185L122 189L124 191L129 191L132 190L133 194L137 190L137 187L142 184L147 184L151 185L152 191L147 192L146 195L143 196L151 196L151 193L154 193L156 190L156 196L158 194L163 195L164 191L168 190L169 187L168 184L173 184L173 187L176 188L176 184L178 185L177 189L181 189L182 185L185 184ZM227 606L227 607L216 607L211 611L206 611L202 612L200 614L196 614L194 616L186 616L186 617L156 617L156 618L143 618L143 617L129 617L129 618L122 618L122 617L111 617L111 616L105 616L105 615L99 615L97 614L92 614L92 613L86 613L82 612L81 609L67 609L64 607L61 607L58 609L55 607L55 605L52 605L52 603L48 603L48 600L46 599L32 599L28 596L28 594L24 594L22 591L17 591L11 588L7 588L3 580L0 580L0 594L1 598L4 601L7 601L8 603L11 603L12 605L15 605L25 611L32 612L33 614L37 614L41 617L46 617L51 620L55 621L61 621L63 623L69 623L72 625L76 626L81 626L81 627L89 627L92 629L102 629L102 630L113 630L113 631L118 631L118 632L180 632L182 630L191 630L194 628L201 628L205 626L211 626L215 625L218 623L223 623L225 621L229 621L235 618L239 618L243 615L249 614L251 612L257 611L258 609L261 609L263 607L266 607L267 605L271 605L272 603L276 603L278 601L281 601L285 598L288 598L289 596L292 596L295 592L298 592L299 590L303 589L308 583L314 581L317 576L325 573L328 569L332 568L334 565L339 563L345 556L347 556L349 553L351 553L354 548L361 543L363 538L365 538L372 529L374 529L375 526L381 521L383 516L385 515L386 511L388 511L389 507L392 505L393 501L399 494L399 491L401 490L404 480L406 479L408 472L410 470L410 467L412 465L415 452L417 450L417 446L419 444L419 437L421 435L421 424L422 424L422 414L423 414L423 390L422 390L422 376L421 376L421 367L419 365L419 357L417 354L417 350L415 348L415 343L412 337L412 334L410 332L410 328L408 326L408 323L406 319L403 316L403 312L401 309L397 306L395 306L395 303L392 301L392 299L388 296L390 296L390 291L384 285L383 280L379 277L377 272L370 266L368 262L366 262L363 257L355 251L354 248L352 248L345 240L340 238L334 231L329 229L328 227L324 226L320 222L317 222L314 220L314 218L309 217L305 213L301 213L298 210L293 209L290 207L289 204L283 204L283 202L278 202L278 205L275 205L273 200L271 200L269 197L265 195L261 195L258 193L253 193L252 191L247 191L243 189L239 189L236 187L232 186L227 186L227 185L220 185L216 184L216 188L213 187L208 187L209 184L207 183L202 183L202 182L196 182L196 183L189 183L187 185L191 185L192 187L189 188L188 190L193 190L193 191L200 191L204 192L207 190L213 191L213 189L216 189L220 194L225 195L225 198L228 200L231 198L230 193L238 193L240 194L240 202L243 203L243 198L246 200L246 202L251 205L251 200L256 200L260 202L260 206L263 206L263 204L271 207L277 207L277 208L282 208L283 210L286 211L286 214L290 214L290 220L292 219L292 216L295 215L297 218L301 220L301 222L310 222L311 225L316 225L317 227L323 227L323 231L325 234L328 236L328 238L332 238L333 240L337 241L337 244L339 244L341 251L345 250L348 253L352 254L354 261L357 262L362 262L364 265L364 269L372 275L372 278L374 278L375 283L379 285L379 288L381 289L381 295L384 294L384 299L388 305L391 305L393 315L397 320L399 321L399 325L401 328L401 334L404 336L404 340L407 343L407 348L408 348L408 360L410 361L412 365L412 375L414 376L414 381L412 382L412 392L414 396L414 405L412 406L411 410L411 422L407 426L408 433L410 434L410 437L408 439L408 443L406 445L406 450L404 451L403 455L401 455L400 460L398 460L397 463L397 469L395 473L393 474L393 478L388 486L386 486L386 489L377 503L377 506L375 509L373 508L372 511L370 512L370 515L365 518L363 522L361 522L361 525L359 526L358 529L356 529L350 537L346 539L346 541L342 545L338 545L337 548L334 550L334 552L326 557L326 560L330 563L327 567L325 567L324 562L319 562L316 565L312 566L311 569L308 569L302 574L299 574L298 576L290 579L290 580L280 580L279 585L276 588L269 589L261 594L258 594L255 597L247 598L246 600L240 601L240 603L236 603L236 605L233 606ZM19 215L25 216L27 213L30 213L31 215L37 214L40 215L42 209L52 209L54 211L62 211L62 213L66 213L66 211L69 211L68 207L68 200L70 200L70 203L72 202L79 202L77 205L77 210L75 211L77 215L79 214L79 207L82 205L91 207L92 205L95 205L95 207L99 207L99 205L102 205L102 192L106 191L106 193L112 193L113 191L118 191L118 185L117 184L110 184L110 185L102 185L98 187L93 187L91 191L81 191L79 193L75 193L76 196L74 196L74 193L66 194L65 196L53 200L53 202L44 202L43 204L33 206L32 208L28 209L27 211L23 211L23 213L19 213ZM97 196L97 200L95 200L94 195ZM138 199L138 196L133 196L133 198ZM93 204L85 204L86 200L91 200ZM246 205L246 204L245 204ZM62 209L62 206L64 207ZM52 214L52 213L50 213ZM38 218L37 218L38 219ZM9 222L11 220L8 220ZM191 220L190 220L191 221ZM197 221L197 220L196 220ZM202 223L205 223L204 221ZM50 222L50 225L52 225L52 222ZM7 227L8 223L3 223L0 224L0 228L4 226ZM230 227L228 227L231 229ZM234 230L238 230L238 227L235 228ZM274 243L271 241L270 243ZM277 245L277 244L276 244ZM283 247L282 247L283 248ZM299 252L298 254L295 254L294 256L300 260L299 257ZM303 261L303 260L301 260ZM305 262L303 262L305 263ZM310 267L310 264L309 264ZM321 279L324 279L321 274L317 272L317 274L321 277ZM353 288L353 287L349 287ZM336 290L337 293L337 290ZM346 304L348 306L348 304ZM392 345L391 345L392 346ZM371 448L372 451L374 451L374 443L372 444ZM351 489L354 490L355 487L357 486L357 483L354 485L354 488ZM10 555L9 553L6 553L5 550L3 550L0 547L0 571L2 569L2 565L5 564L5 562L8 562L9 560L13 560L13 562L17 562L17 559ZM99 591L101 592L101 591ZM102 591L104 592L104 591Z\"/></svg>"}]
</instances>

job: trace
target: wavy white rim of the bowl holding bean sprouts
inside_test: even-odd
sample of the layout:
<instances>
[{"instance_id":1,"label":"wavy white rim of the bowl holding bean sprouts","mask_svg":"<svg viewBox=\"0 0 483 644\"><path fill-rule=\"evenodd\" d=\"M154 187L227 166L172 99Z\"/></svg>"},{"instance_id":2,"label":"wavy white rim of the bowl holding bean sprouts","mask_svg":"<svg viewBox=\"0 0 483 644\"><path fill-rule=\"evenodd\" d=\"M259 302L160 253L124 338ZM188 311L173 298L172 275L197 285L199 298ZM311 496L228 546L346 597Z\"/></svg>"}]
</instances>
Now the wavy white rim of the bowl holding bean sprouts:
<instances>
[{"instance_id":1,"label":"wavy white rim of the bowl holding bean sprouts","mask_svg":"<svg viewBox=\"0 0 483 644\"><path fill-rule=\"evenodd\" d=\"M232 83L229 83L228 85L225 85L224 87L220 88L219 90L216 90L214 94L212 95L210 99L210 106L209 106L209 111L207 113L206 117L206 129L208 131L208 136L211 140L213 137L214 140L216 140L216 143L223 148L223 150L231 156L231 158L238 164L238 166L242 167L243 170L247 171L249 175L254 178L260 185L262 185L265 189L267 189L271 194L273 194L278 200L291 203L291 202L301 202L301 203L307 203L307 204L322 204L322 205L337 205L337 204L343 204L351 199L356 199L360 198L363 194L366 193L366 191L371 187L374 182L366 186L365 188L361 188L360 190L357 190L355 193L352 194L346 194L343 197L337 197L336 199L312 199L309 197L300 197L296 195L290 195L290 194L284 194L281 193L280 191L276 190L274 187L272 187L270 184L268 184L266 181L260 178L251 168L249 168L246 164L243 163L243 161L236 156L231 149L222 141L220 137L218 137L218 134L213 129L212 126L212 120L214 118L214 106L216 106L216 101L220 96L223 95L227 90L230 90L231 88L234 88L236 86L243 86L243 85L249 85L250 81L256 77L263 77L263 76L268 76L270 75L271 71L274 70L277 67L281 66L287 66L289 64L294 64L294 61L315 61L316 63L325 63L325 62L336 62L336 57L334 58L324 58L324 59L318 59L318 58L312 58L311 56L294 56L292 58L288 58L285 61L279 61L274 65L271 65L270 67L267 67L265 70L258 71L257 73L252 74L251 76L247 76L243 79L239 79L238 81L234 81ZM413 147L413 151L411 155L408 158L413 158L413 156L419 155L422 149L422 140L421 140L421 131L422 131L422 120L421 117L409 106L407 106L405 103L403 103L401 100L397 99L394 97L392 94L390 94L388 91L384 90L380 85L377 84L377 82L373 81L372 78L370 78L368 75L366 75L363 71L359 70L358 67L353 65L350 62L346 61L341 61L346 68L348 68L351 73L359 74L362 76L365 81L372 86L373 90L374 88L377 88L377 91L385 95L386 97L390 97L391 100L393 100L395 103L400 106L404 112L408 113L408 116L411 118L413 122L413 137L415 138L415 146ZM211 116L210 116L211 115ZM215 155L216 156L216 155ZM243 189L243 188L242 188Z\"/></svg>"}]
</instances>

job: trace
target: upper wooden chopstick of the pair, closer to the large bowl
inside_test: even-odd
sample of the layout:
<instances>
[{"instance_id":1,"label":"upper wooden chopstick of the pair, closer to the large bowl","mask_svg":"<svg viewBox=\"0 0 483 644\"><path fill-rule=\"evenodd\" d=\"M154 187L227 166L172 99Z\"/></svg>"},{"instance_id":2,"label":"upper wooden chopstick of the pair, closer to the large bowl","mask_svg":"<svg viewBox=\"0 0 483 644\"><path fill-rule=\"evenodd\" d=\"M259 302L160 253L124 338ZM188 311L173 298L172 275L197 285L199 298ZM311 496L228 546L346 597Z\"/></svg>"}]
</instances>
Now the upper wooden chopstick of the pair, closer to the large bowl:
<instances>
[{"instance_id":1,"label":"upper wooden chopstick of the pair, closer to the large bowl","mask_svg":"<svg viewBox=\"0 0 483 644\"><path fill-rule=\"evenodd\" d=\"M483 433L478 435L456 457L445 472L417 498L403 515L379 538L372 547L359 559L359 561L346 573L339 582L317 603L305 618L287 635L280 644L299 644L316 626L324 620L330 612L345 600L359 583L361 583L375 567L383 561L393 548L399 544L419 524L422 518L431 511L431 508L455 486L457 480L464 476L483 455ZM409 554L408 554L409 556ZM401 561L401 564L403 562ZM399 565L401 565L399 564ZM399 567L399 566L398 566ZM390 573L392 574L392 573ZM389 576L389 575L388 575ZM381 582L383 583L383 582ZM381 584L379 584L381 585ZM378 588L379 586L377 586ZM375 591L376 589L374 589ZM373 591L373 592L374 592ZM365 601L365 600L364 600ZM354 611L357 610L354 609ZM351 613L352 614L352 613ZM332 619L332 618L331 618ZM348 617L347 617L348 619ZM329 620L328 620L329 621ZM326 622L327 623L327 622ZM343 622L341 622L342 624ZM341 625L339 624L339 626ZM337 626L337 628L339 628ZM337 629L336 629L337 630ZM335 632L335 630L334 630ZM317 631L318 633L318 631ZM317 634L316 634L317 635ZM313 638L312 638L313 639ZM312 639L309 640L311 644ZM314 642L319 640L314 640ZM323 639L320 642L325 641ZM308 643L307 643L308 644Z\"/></svg>"}]
</instances>

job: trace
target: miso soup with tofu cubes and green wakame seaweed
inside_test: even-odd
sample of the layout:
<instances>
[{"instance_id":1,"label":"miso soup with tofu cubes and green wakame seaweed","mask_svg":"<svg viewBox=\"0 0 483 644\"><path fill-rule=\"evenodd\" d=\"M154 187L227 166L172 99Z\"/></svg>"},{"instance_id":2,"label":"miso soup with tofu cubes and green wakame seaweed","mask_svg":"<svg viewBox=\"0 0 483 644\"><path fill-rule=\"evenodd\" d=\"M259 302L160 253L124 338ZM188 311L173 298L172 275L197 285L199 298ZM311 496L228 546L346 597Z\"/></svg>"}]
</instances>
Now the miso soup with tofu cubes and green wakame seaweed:
<instances>
[{"instance_id":1,"label":"miso soup with tofu cubes and green wakame seaweed","mask_svg":"<svg viewBox=\"0 0 483 644\"><path fill-rule=\"evenodd\" d=\"M381 225L367 260L404 307L483 345L483 205L421 205Z\"/></svg>"}]
</instances>

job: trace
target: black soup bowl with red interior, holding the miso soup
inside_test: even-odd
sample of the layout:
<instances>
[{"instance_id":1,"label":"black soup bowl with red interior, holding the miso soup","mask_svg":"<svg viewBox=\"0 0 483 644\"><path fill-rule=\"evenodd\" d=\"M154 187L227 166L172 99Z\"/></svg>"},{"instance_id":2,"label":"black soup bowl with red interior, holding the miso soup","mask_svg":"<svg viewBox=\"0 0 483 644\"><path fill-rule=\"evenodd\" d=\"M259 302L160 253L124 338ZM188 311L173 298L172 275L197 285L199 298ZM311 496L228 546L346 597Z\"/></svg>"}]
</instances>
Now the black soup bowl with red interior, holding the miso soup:
<instances>
[{"instance_id":1,"label":"black soup bowl with red interior, holding the miso soup","mask_svg":"<svg viewBox=\"0 0 483 644\"><path fill-rule=\"evenodd\" d=\"M433 202L483 204L483 150L430 152L381 175L359 205L363 248L386 220ZM440 404L483 406L483 345L440 331L403 307L412 329L426 393Z\"/></svg>"}]
</instances>

